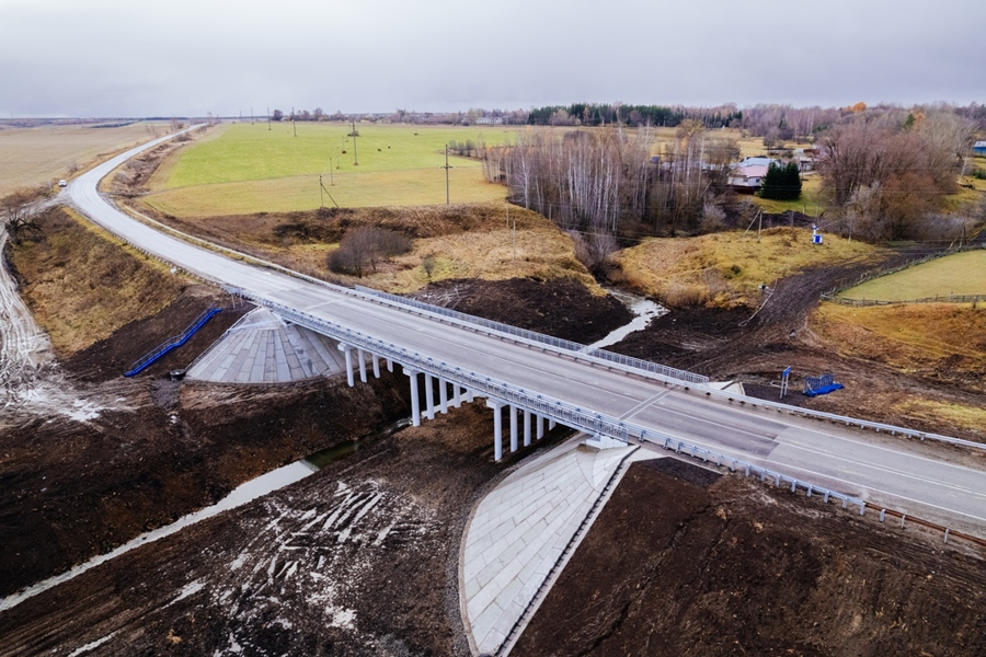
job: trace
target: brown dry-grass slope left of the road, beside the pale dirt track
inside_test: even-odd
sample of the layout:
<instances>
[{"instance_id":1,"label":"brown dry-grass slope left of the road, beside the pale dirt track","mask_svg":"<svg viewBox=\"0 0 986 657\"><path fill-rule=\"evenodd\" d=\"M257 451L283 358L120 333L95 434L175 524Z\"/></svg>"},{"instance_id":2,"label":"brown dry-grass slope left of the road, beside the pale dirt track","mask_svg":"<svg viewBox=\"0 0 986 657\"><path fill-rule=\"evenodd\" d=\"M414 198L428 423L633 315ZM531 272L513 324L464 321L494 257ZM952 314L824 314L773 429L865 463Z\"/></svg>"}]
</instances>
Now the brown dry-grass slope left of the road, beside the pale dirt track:
<instances>
[{"instance_id":1,"label":"brown dry-grass slope left of the road, beside the pale dirt track","mask_svg":"<svg viewBox=\"0 0 986 657\"><path fill-rule=\"evenodd\" d=\"M59 358L153 315L186 285L69 210L51 210L42 222L44 237L14 247L12 261Z\"/></svg>"}]
</instances>

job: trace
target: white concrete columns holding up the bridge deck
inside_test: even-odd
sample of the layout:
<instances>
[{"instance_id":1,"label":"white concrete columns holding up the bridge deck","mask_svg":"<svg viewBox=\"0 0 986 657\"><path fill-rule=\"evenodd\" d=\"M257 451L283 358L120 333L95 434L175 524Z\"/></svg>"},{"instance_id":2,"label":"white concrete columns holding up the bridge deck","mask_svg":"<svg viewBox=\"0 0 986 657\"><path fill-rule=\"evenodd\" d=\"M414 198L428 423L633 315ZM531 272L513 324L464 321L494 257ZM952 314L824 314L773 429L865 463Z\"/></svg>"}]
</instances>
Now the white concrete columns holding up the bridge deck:
<instances>
[{"instance_id":1,"label":"white concrete columns holding up the bridge deck","mask_svg":"<svg viewBox=\"0 0 986 657\"><path fill-rule=\"evenodd\" d=\"M359 368L359 380L366 383L367 374L366 374L366 351L360 347L354 347L352 345L347 345L345 343L340 343L339 349L345 354L346 357L346 381L349 383L349 387L356 384L356 367ZM356 351L356 362L353 362L353 351ZM370 362L372 364L374 377L377 379L380 378L380 358L374 354L369 353ZM459 385L452 381L446 381L440 377L436 377L428 372L423 372L421 370L404 367L404 373L411 379L411 422L417 427L421 426L422 415L427 419L434 419L435 413L448 413L449 406L454 408L458 408L462 402L472 403L477 396L475 391L470 390L469 388ZM388 358L387 359L387 371L393 371L393 361ZM419 374L424 374L425 378L425 405L424 410L421 407L421 399L417 389L417 377ZM435 403L435 380L438 382L438 403ZM509 422L511 422L511 451L515 452L518 449L519 442L519 417L523 414L523 423L524 423L524 446L527 447L530 445L531 435L534 434L535 439L540 440L544 437L544 424L547 420L548 430L554 428L555 423L554 419L550 417L546 417L538 413L532 413L526 408L520 408L519 406L515 406L508 402L503 402L495 399L488 399L486 405L490 408L493 408L493 453L494 458L500 461L503 458L503 408L508 408ZM534 416L534 423L531 423L531 416ZM534 430L532 430L534 429Z\"/></svg>"}]
</instances>

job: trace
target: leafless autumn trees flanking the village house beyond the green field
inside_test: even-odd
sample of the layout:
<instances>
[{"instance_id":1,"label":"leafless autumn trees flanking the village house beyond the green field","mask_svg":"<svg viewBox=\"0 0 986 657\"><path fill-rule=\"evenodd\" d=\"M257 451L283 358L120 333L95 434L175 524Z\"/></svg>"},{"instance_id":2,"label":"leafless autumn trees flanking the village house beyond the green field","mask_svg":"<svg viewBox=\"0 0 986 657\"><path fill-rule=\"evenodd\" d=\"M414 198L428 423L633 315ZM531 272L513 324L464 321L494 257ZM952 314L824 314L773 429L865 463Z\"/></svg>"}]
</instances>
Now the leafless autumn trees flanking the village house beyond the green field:
<instances>
[{"instance_id":1,"label":"leafless autumn trees flanking the village house beyond the green field","mask_svg":"<svg viewBox=\"0 0 986 657\"><path fill-rule=\"evenodd\" d=\"M944 197L974 173L970 164L976 123L954 108L867 107L809 110L782 123L781 107L763 107L765 120L792 130L814 126L828 229L871 241L954 239L986 219L986 205L962 216L944 212ZM711 116L715 116L712 113ZM769 118L767 118L769 117ZM744 114L742 120L753 120ZM817 120L830 122L821 127ZM685 118L660 149L652 128L607 124L595 130L532 130L514 145L481 149L489 181L507 185L511 199L562 229L611 243L642 234L716 230L742 219L744 204L727 178L740 149L710 130L704 118ZM760 195L801 195L796 162L768 169Z\"/></svg>"}]
</instances>

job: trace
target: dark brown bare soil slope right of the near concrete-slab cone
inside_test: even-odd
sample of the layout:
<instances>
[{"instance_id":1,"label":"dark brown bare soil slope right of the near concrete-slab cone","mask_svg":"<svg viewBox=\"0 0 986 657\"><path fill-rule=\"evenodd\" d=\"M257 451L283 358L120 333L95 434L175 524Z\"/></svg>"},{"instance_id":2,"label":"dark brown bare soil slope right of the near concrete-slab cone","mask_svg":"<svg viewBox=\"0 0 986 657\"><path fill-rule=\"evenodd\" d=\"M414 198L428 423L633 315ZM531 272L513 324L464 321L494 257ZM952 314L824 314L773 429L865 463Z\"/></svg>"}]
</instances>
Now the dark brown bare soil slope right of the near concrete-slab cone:
<instances>
[{"instance_id":1,"label":"dark brown bare soil slope right of the near concrete-slab cone","mask_svg":"<svg viewBox=\"0 0 986 657\"><path fill-rule=\"evenodd\" d=\"M986 555L736 476L709 484L667 459L631 466L512 655L958 656L986 642Z\"/></svg>"}]
</instances>

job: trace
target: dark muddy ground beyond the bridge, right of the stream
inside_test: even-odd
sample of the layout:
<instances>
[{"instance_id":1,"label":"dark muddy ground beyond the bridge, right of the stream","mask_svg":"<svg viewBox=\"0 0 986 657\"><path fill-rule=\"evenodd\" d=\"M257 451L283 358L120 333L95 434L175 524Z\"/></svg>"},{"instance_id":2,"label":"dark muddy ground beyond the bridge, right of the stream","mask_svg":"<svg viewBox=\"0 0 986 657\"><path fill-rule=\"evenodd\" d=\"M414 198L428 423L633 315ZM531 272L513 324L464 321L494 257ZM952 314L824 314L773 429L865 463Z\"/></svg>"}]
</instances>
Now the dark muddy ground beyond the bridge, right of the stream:
<instances>
[{"instance_id":1,"label":"dark muddy ground beyond the bridge, right of the stream","mask_svg":"<svg viewBox=\"0 0 986 657\"><path fill-rule=\"evenodd\" d=\"M792 367L786 403L986 442L982 427L943 427L894 411L894 404L908 396L981 406L982 380L949 372L902 373L880 362L841 356L811 328L809 318L822 293L874 267L894 267L914 257L914 252L907 252L875 265L818 268L786 278L769 299L760 300L766 300L760 310L674 309L645 331L608 348L696 371L714 381L741 381L748 394L769 400L779 399L781 372ZM845 389L817 397L801 394L804 378L822 373L834 374Z\"/></svg>"}]
</instances>

